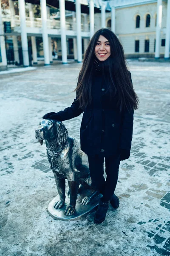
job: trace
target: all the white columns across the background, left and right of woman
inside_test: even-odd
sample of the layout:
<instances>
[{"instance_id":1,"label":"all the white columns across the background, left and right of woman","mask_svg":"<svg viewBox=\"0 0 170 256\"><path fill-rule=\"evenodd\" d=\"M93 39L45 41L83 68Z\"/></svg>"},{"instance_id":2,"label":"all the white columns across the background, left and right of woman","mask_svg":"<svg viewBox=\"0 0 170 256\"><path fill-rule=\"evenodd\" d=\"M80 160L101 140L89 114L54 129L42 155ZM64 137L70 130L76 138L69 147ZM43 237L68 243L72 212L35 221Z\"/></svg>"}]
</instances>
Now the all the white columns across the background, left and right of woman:
<instances>
[{"instance_id":1,"label":"all the white columns across the background, left and right of woman","mask_svg":"<svg viewBox=\"0 0 170 256\"><path fill-rule=\"evenodd\" d=\"M25 0L18 0L19 13L20 13L20 28L21 28L21 44L23 49L23 65L24 67L29 66L29 57L28 57L28 39L26 32L26 9L25 9ZM9 6L11 11L11 26L14 27L14 2L9 0ZM47 28L47 19L50 17L49 7L46 6L46 0L40 0L41 6L41 19L42 19L42 39L43 39L43 50L44 50L44 59L45 65L50 65L52 63L52 47L51 47L51 37L48 36ZM29 7L29 17L31 21L31 27L34 26L34 14L33 14L33 5L28 4ZM105 14L106 4L102 3L101 6L101 27L106 27L106 14ZM60 31L61 31L61 47L62 47L62 63L67 63L67 38L66 38L66 25L65 25L65 0L59 0L59 12L60 12ZM82 62L82 33L81 33L81 17L83 16L84 20L84 30L88 32L88 15L81 14L81 3L80 0L76 0L76 12L73 12L73 22L75 24L74 31L76 31L76 37L73 38L74 43L74 59L78 62ZM111 30L115 32L116 22L115 22L115 7L111 7ZM89 0L89 20L90 20L90 33L89 37L91 38L94 35L94 0ZM161 41L161 23L162 23L162 0L157 0L157 25L156 25L156 50L155 58L160 57L160 41ZM5 46L3 29L2 29L2 17L1 17L1 6L0 6L0 47L3 60L6 59L4 55L3 46ZM17 45L17 36L13 36L13 46L14 46L14 59L19 63L19 54L18 54L18 45ZM89 38L84 38L84 47L85 49L88 46ZM31 45L33 53L33 63L37 64L37 47L36 47L36 38L31 36ZM167 26L166 26L166 40L165 40L165 53L164 58L170 58L170 0L167 0Z\"/></svg>"}]
</instances>

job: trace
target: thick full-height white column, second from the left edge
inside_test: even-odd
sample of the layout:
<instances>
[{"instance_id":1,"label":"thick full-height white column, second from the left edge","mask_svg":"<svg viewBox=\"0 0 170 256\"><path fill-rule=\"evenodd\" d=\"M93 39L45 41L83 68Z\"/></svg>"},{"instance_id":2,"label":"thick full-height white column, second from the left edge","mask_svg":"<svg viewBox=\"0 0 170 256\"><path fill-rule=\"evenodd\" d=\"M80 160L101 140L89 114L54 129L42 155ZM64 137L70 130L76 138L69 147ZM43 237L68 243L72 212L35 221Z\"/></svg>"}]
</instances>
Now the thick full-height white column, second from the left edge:
<instances>
[{"instance_id":1,"label":"thick full-height white column, second from the left edge","mask_svg":"<svg viewBox=\"0 0 170 256\"><path fill-rule=\"evenodd\" d=\"M26 7L24 0L18 0L19 14L20 14L20 27L21 27L21 45L23 50L23 64L24 67L29 66L28 55L28 38L26 32Z\"/></svg>"}]
</instances>

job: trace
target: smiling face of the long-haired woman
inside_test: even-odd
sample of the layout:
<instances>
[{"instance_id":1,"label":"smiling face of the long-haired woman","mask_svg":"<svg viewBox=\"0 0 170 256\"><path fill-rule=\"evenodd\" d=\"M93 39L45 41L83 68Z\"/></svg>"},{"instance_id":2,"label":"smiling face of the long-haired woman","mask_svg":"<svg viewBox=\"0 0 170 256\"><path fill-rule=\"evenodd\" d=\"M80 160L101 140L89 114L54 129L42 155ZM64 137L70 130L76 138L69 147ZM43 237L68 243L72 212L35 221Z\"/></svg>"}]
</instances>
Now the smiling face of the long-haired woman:
<instances>
[{"instance_id":1,"label":"smiling face of the long-haired woman","mask_svg":"<svg viewBox=\"0 0 170 256\"><path fill-rule=\"evenodd\" d=\"M111 46L108 39L105 38L103 35L99 36L96 42L94 53L99 61L105 61L111 55Z\"/></svg>"}]
</instances>

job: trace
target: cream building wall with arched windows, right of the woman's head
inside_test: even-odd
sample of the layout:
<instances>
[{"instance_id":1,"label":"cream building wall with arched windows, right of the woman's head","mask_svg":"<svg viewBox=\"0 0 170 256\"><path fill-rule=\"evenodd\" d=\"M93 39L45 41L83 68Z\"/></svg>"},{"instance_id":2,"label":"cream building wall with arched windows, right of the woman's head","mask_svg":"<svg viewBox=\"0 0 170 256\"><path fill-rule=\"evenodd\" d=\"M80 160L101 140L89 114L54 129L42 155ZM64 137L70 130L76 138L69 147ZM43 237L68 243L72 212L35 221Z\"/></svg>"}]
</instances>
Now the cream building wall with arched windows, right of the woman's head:
<instances>
[{"instance_id":1,"label":"cream building wall with arched windows, right of the woman's head","mask_svg":"<svg viewBox=\"0 0 170 256\"><path fill-rule=\"evenodd\" d=\"M127 58L155 57L157 5L157 1L155 3L145 1L144 4L136 3L135 6L129 4L116 9L116 35L122 43ZM163 1L159 37L159 57L161 58L164 57L165 52L166 23L167 1Z\"/></svg>"}]
</instances>

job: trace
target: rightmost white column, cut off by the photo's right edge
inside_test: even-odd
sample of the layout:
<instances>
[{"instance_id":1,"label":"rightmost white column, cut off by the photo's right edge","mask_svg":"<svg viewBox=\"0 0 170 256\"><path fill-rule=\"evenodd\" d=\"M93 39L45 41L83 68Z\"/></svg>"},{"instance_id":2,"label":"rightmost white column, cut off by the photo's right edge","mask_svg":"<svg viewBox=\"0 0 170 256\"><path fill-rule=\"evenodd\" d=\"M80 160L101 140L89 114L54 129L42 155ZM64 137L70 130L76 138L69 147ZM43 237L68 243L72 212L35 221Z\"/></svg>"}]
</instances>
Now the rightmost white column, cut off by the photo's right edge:
<instances>
[{"instance_id":1,"label":"rightmost white column, cut off by the photo's right edge","mask_svg":"<svg viewBox=\"0 0 170 256\"><path fill-rule=\"evenodd\" d=\"M170 58L170 0L167 1L167 28L166 28L164 58L165 59Z\"/></svg>"}]
</instances>

